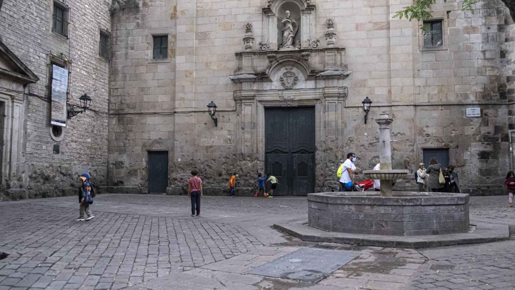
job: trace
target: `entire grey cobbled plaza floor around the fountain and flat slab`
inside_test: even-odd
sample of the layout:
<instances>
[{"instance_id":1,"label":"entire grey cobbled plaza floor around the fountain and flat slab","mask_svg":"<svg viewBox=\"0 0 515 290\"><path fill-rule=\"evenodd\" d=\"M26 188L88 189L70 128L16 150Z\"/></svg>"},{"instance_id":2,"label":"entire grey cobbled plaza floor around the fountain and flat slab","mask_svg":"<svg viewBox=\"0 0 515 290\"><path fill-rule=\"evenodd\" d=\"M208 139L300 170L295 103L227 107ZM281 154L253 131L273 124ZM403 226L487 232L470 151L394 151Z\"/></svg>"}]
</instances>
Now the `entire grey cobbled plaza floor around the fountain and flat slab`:
<instances>
[{"instance_id":1,"label":"entire grey cobbled plaza floor around the fountain and flat slab","mask_svg":"<svg viewBox=\"0 0 515 290\"><path fill-rule=\"evenodd\" d=\"M473 197L471 219L515 224L506 197ZM428 249L310 243L270 229L306 219L299 197L99 195L75 221L76 197L0 203L0 290L515 290L515 241ZM317 284L248 274L300 247L358 257Z\"/></svg>"}]
</instances>

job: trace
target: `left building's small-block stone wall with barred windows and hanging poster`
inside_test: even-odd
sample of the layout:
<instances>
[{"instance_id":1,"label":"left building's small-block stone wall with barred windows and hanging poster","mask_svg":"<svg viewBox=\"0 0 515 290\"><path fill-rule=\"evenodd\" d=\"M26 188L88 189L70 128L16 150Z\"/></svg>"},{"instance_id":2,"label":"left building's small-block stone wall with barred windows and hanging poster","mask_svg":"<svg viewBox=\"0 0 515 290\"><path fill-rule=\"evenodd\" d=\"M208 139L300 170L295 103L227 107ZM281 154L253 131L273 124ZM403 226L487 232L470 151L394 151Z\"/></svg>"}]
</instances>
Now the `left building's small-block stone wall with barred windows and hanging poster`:
<instances>
[{"instance_id":1,"label":"left building's small-block stone wall with barred windows and hanging poster","mask_svg":"<svg viewBox=\"0 0 515 290\"><path fill-rule=\"evenodd\" d=\"M77 176L84 172L99 185L106 181L109 61L99 57L98 50L99 29L111 29L110 3L84 0L67 5L69 39L52 32L51 0L5 0L0 10L0 37L40 79L25 94L25 169L0 185L0 200L76 194ZM84 93L93 99L90 110L67 121L59 142L50 137L45 87L50 52L72 60L69 102L79 105ZM53 152L56 144L59 154Z\"/></svg>"}]
</instances>

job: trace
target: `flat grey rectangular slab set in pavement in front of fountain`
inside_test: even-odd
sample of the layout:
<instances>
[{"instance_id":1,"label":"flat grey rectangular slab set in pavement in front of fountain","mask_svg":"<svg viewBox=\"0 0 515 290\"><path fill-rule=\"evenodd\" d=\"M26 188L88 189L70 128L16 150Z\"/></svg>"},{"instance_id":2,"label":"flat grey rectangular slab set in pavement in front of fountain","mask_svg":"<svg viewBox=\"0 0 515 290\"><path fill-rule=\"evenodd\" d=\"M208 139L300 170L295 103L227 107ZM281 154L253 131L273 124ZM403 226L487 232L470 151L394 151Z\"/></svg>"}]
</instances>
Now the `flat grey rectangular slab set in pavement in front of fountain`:
<instances>
[{"instance_id":1,"label":"flat grey rectangular slab set in pavement in front of fountain","mask_svg":"<svg viewBox=\"0 0 515 290\"><path fill-rule=\"evenodd\" d=\"M358 253L301 248L249 271L250 274L316 283L349 263Z\"/></svg>"}]
</instances>

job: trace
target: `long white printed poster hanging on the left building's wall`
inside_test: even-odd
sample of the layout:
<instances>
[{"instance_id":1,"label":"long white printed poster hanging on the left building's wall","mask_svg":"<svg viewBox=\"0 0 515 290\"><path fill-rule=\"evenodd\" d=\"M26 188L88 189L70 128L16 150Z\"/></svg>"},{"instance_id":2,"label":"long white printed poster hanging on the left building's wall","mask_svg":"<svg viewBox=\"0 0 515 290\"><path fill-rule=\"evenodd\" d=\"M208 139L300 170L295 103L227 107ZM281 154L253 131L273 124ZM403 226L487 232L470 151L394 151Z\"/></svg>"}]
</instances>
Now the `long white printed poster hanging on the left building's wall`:
<instances>
[{"instance_id":1,"label":"long white printed poster hanging on the left building's wall","mask_svg":"<svg viewBox=\"0 0 515 290\"><path fill-rule=\"evenodd\" d=\"M66 90L68 70L60 66L52 67L52 116L50 124L66 127Z\"/></svg>"}]
</instances>

